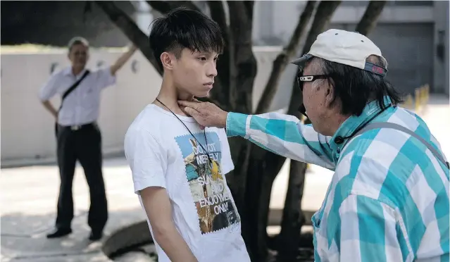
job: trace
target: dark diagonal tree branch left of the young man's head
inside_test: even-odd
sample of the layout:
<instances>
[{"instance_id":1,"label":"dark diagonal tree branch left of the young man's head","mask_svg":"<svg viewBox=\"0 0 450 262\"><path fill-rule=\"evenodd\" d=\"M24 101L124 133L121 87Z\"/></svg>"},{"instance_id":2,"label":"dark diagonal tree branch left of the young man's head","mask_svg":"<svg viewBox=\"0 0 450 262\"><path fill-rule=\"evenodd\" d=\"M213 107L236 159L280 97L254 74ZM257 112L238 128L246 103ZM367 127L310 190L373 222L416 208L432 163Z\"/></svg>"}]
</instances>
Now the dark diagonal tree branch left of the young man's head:
<instances>
[{"instance_id":1,"label":"dark diagonal tree branch left of the young man's head","mask_svg":"<svg viewBox=\"0 0 450 262\"><path fill-rule=\"evenodd\" d=\"M113 1L95 1L95 4L141 50L142 54L144 54L158 73L163 75L163 70L159 68L158 62L151 51L147 36L137 27L136 23L125 12L115 6Z\"/></svg>"}]
</instances>

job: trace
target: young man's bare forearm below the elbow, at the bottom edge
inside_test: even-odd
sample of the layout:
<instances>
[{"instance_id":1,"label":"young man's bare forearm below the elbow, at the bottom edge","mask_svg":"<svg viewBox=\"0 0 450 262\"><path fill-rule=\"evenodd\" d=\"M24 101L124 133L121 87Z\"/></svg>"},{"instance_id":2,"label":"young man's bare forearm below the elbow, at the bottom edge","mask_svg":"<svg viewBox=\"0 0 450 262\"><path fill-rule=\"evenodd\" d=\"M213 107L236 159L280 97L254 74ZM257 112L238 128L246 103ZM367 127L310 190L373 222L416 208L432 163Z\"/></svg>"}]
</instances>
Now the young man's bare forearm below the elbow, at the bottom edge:
<instances>
[{"instance_id":1,"label":"young man's bare forearm below the elbow, at the bottom edge","mask_svg":"<svg viewBox=\"0 0 450 262\"><path fill-rule=\"evenodd\" d=\"M185 239L182 238L175 226L165 225L163 227L154 227L153 230L156 242L170 258L170 261L197 262Z\"/></svg>"}]
</instances>

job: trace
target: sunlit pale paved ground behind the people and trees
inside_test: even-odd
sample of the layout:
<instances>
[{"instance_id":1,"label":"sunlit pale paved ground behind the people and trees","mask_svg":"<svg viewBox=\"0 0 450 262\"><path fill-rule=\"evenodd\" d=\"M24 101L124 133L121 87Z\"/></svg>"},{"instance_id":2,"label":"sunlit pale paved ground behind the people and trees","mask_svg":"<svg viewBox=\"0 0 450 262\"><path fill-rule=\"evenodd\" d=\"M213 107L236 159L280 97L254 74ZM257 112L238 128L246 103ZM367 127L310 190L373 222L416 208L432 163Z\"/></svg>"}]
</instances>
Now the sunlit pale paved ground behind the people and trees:
<instances>
[{"instance_id":1,"label":"sunlit pale paved ground behind the people and trees","mask_svg":"<svg viewBox=\"0 0 450 262\"><path fill-rule=\"evenodd\" d=\"M435 137L450 156L449 99L431 97L427 110L421 113ZM273 186L271 208L281 208L285 200L289 162L285 163ZM59 179L56 166L29 166L1 169L1 261L108 261L101 252L101 242L87 241L89 227L86 211L89 192L80 166L73 187L75 214L73 234L63 239L46 239L54 224ZM133 193L130 170L123 158L107 159L104 177L108 194L110 218L106 235L114 230L144 219L137 196ZM320 207L332 173L313 166L306 175L303 200L305 210ZM272 230L277 230L272 228ZM136 260L130 260L136 261Z\"/></svg>"}]
</instances>

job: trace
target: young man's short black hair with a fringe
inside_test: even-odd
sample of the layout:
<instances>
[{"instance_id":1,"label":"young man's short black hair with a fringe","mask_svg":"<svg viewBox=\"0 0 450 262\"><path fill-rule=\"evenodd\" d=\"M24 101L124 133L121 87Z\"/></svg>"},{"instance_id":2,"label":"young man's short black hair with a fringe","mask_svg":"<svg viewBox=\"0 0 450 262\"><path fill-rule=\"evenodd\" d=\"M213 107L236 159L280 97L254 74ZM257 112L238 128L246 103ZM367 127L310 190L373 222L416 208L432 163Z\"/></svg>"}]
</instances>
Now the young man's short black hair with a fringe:
<instances>
[{"instance_id":1,"label":"young man's short black hair with a fringe","mask_svg":"<svg viewBox=\"0 0 450 262\"><path fill-rule=\"evenodd\" d=\"M175 8L163 18L156 18L149 35L149 44L158 65L161 54L169 51L180 58L182 49L192 52L222 53L225 42L218 23L199 11Z\"/></svg>"}]
</instances>

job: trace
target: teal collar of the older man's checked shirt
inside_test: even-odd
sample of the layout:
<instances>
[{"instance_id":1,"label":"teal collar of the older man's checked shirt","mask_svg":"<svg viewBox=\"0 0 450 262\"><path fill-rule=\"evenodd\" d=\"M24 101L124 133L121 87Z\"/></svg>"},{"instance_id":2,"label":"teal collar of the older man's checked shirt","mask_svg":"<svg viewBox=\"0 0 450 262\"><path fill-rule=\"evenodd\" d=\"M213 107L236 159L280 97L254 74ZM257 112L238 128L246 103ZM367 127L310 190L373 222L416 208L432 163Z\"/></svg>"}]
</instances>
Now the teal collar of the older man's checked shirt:
<instances>
[{"instance_id":1,"label":"teal collar of the older man's checked shirt","mask_svg":"<svg viewBox=\"0 0 450 262\"><path fill-rule=\"evenodd\" d=\"M385 106L389 106L389 104L392 104L389 96L385 96L385 98L383 99L383 104ZM330 141L330 148L332 149L332 151L339 154L342 150L342 146L344 146L346 140L349 139L345 137L349 137L353 132L355 132L356 129L358 129L358 127L361 127L361 125L368 123L381 111L382 108L380 108L380 106L378 105L378 101L371 101L364 107L363 113L361 113L360 116L350 116L349 118L347 118L344 123L342 123L342 125L337 129L335 135L332 136L332 139Z\"/></svg>"}]
</instances>

